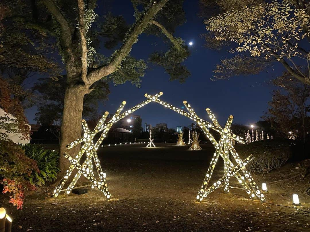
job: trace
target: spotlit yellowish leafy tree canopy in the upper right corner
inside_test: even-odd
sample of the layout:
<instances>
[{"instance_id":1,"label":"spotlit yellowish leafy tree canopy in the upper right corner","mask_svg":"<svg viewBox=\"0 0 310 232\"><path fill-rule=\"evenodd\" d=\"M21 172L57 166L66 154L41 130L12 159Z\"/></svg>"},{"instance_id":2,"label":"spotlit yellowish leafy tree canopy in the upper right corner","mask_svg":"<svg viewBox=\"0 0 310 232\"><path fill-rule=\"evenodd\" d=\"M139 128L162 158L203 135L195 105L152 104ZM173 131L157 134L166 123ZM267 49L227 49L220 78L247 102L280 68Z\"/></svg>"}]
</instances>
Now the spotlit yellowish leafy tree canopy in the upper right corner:
<instances>
[{"instance_id":1,"label":"spotlit yellowish leafy tree canopy in the upper right corner","mask_svg":"<svg viewBox=\"0 0 310 232\"><path fill-rule=\"evenodd\" d=\"M210 1L202 2L206 6ZM209 15L204 22L209 31L204 35L209 47L228 46L230 53L244 52L244 55L221 60L215 69L215 78L257 74L270 67L271 61L277 61L294 78L310 84L306 1L249 0L241 5L223 0L215 3L219 15Z\"/></svg>"}]
</instances>

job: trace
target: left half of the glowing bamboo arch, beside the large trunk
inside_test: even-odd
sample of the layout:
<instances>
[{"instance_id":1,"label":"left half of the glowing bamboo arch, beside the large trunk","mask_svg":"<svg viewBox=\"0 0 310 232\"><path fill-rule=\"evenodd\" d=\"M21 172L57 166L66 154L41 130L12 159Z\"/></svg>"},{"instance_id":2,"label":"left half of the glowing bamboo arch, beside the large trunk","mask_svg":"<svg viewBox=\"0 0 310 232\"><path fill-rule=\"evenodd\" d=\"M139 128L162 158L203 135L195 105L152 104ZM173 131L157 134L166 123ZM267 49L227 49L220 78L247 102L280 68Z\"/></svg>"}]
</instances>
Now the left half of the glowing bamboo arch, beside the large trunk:
<instances>
[{"instance_id":1,"label":"left half of the glowing bamboo arch, beside the large trunk","mask_svg":"<svg viewBox=\"0 0 310 232\"><path fill-rule=\"evenodd\" d=\"M97 155L97 149L100 147L100 144L102 143L104 138L107 136L109 129L112 127L114 123L128 116L129 114L135 112L137 109L150 103L153 99L161 95L162 95L162 92L152 96L152 99L147 99L141 102L140 104L134 106L133 108L120 114L121 111L123 110L123 107L126 104L126 102L123 101L110 120L106 122L108 112L105 112L104 115L101 117L100 121L98 122L98 124L96 125L95 129L92 131L88 129L86 121L82 120L82 126L84 130L83 137L68 144L67 149L69 150L73 148L74 146L77 146L81 143L84 143L84 144L81 146L79 153L76 155L71 156L66 152L64 153L64 156L68 158L70 162L70 167L66 171L66 174L64 175L63 179L60 181L59 185L55 188L54 192L52 193L52 196L57 197L61 191L64 191L65 194L68 195L72 191L74 186L76 185L81 175L84 175L91 182L92 188L98 188L101 192L104 193L104 196L106 197L107 200L111 199L112 196L109 193L109 190L107 188L107 183L104 177L104 172L102 171L101 164L100 164L100 161ZM94 144L93 139L95 135L100 132L102 132L100 135L100 138ZM80 164L80 159L83 156L83 154L86 154L86 159L82 164ZM69 186L67 187L67 189L62 190L62 188L64 188L65 183L69 179L70 175L72 175L74 169L77 170L77 173L73 177L71 183L69 183ZM98 172L99 179L95 177L94 170Z\"/></svg>"}]
</instances>

